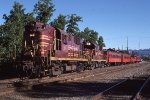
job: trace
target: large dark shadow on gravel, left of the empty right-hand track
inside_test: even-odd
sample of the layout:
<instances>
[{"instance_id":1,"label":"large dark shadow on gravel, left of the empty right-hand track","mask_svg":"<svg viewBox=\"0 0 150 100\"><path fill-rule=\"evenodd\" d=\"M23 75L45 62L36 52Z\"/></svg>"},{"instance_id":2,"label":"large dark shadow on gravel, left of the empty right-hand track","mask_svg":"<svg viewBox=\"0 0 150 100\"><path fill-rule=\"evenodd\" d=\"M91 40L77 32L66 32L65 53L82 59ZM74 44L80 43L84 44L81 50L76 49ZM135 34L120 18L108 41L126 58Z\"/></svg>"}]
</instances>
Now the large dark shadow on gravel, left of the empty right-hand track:
<instances>
[{"instance_id":1,"label":"large dark shadow on gravel, left of the empty right-hand track","mask_svg":"<svg viewBox=\"0 0 150 100\"><path fill-rule=\"evenodd\" d=\"M52 98L52 97L80 97L93 96L115 83L99 83L99 82L68 82L68 83L49 83L32 86L29 90L20 89L23 95L31 98Z\"/></svg>"}]
</instances>

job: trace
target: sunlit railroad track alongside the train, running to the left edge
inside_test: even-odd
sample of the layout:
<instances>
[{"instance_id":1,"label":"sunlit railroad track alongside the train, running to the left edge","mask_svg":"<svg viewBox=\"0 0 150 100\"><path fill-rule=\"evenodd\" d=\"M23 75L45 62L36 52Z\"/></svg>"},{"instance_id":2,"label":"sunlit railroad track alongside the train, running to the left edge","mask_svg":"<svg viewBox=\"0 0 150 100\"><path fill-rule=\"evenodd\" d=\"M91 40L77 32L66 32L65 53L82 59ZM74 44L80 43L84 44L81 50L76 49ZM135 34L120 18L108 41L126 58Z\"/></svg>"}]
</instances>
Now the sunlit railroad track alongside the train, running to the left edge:
<instances>
[{"instance_id":1,"label":"sunlit railroad track alongside the train, running to the left edge","mask_svg":"<svg viewBox=\"0 0 150 100\"><path fill-rule=\"evenodd\" d=\"M109 74L109 73L115 73L117 71L121 71L121 70L126 70L126 69L131 69L131 68L135 68L137 67L136 65L131 65L131 66L126 66L126 67L121 67L113 70L105 70L102 73L99 73L98 70L96 70L95 72L90 71L86 71L86 72L82 72L82 73L69 73L69 74L62 74L61 76L58 77L45 77L43 79L25 79L25 80L18 80L15 83L9 83L7 88L1 89L1 91L6 91L6 92L1 92L0 91L0 95L6 94L6 93L10 93L10 92L14 92L16 90L16 86L20 87L20 86L25 86L25 87L32 87L33 85L38 85L38 84L44 84L44 83L55 83L55 82L71 82L71 81L77 81L77 80L81 80L81 79L85 79L85 78L90 78L93 76L97 76L97 75L105 75L105 74ZM138 66L140 67L140 66ZM17 88L18 89L18 88Z\"/></svg>"}]
</instances>

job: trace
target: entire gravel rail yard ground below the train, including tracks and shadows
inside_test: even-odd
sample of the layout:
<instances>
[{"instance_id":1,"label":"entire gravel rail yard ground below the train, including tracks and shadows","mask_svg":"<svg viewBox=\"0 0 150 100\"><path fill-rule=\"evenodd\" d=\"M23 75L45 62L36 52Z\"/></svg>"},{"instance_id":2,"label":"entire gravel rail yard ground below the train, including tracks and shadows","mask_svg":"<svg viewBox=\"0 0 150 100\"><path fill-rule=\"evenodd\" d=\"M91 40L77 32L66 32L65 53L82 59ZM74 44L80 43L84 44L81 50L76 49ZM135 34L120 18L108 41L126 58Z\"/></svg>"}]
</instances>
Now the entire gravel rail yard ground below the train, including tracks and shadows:
<instances>
[{"instance_id":1,"label":"entire gravel rail yard ground below the train, including tracks and shadows","mask_svg":"<svg viewBox=\"0 0 150 100\"><path fill-rule=\"evenodd\" d=\"M149 99L150 63L141 62L65 73L41 79L1 81L6 100L137 100Z\"/></svg>"}]
</instances>

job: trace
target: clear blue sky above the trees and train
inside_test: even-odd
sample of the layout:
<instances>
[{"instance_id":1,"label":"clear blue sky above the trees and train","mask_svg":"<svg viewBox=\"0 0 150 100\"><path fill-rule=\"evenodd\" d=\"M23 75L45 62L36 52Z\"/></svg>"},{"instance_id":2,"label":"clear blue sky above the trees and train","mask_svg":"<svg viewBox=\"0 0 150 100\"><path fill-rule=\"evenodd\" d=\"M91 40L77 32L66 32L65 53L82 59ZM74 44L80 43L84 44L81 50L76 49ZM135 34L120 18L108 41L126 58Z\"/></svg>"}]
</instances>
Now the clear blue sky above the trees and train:
<instances>
[{"instance_id":1,"label":"clear blue sky above the trees and train","mask_svg":"<svg viewBox=\"0 0 150 100\"><path fill-rule=\"evenodd\" d=\"M0 0L0 24L3 14L9 14L15 0ZM16 0L31 12L37 0ZM83 17L80 30L94 29L103 36L106 48L150 48L150 0L53 0L59 14L75 13ZM53 19L52 18L52 19Z\"/></svg>"}]
</instances>

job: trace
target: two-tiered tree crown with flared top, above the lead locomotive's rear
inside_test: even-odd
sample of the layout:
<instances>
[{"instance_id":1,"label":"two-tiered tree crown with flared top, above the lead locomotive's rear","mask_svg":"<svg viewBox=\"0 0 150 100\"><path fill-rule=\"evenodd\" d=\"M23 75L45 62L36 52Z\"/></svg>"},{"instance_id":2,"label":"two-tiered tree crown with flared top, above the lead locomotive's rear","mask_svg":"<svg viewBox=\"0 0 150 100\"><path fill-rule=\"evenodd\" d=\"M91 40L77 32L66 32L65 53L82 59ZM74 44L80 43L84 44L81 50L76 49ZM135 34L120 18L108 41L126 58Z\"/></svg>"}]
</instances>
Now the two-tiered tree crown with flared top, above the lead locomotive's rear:
<instances>
[{"instance_id":1,"label":"two-tiered tree crown with flared top, above the lead locomotive's rear","mask_svg":"<svg viewBox=\"0 0 150 100\"><path fill-rule=\"evenodd\" d=\"M67 32L72 35L76 35L79 32L78 22L82 21L82 17L77 16L76 14L68 15L68 24L67 24Z\"/></svg>"}]
</instances>

